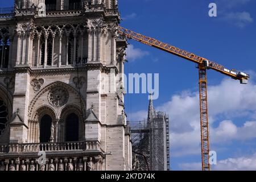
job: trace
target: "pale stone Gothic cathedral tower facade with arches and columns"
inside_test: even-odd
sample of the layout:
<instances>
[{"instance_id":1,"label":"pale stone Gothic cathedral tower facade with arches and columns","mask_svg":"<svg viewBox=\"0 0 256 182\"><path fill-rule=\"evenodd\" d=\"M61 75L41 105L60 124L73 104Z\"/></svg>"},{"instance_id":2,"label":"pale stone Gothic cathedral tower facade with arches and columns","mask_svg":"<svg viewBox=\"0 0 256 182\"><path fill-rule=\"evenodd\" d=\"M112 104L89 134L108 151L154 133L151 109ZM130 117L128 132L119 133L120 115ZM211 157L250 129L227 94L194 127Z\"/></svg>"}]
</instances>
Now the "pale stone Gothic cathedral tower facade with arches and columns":
<instances>
[{"instance_id":1,"label":"pale stone Gothic cathedral tower facade with arches and columns","mask_svg":"<svg viewBox=\"0 0 256 182\"><path fill-rule=\"evenodd\" d=\"M131 169L119 20L117 0L16 0L0 14L0 169Z\"/></svg>"}]
</instances>

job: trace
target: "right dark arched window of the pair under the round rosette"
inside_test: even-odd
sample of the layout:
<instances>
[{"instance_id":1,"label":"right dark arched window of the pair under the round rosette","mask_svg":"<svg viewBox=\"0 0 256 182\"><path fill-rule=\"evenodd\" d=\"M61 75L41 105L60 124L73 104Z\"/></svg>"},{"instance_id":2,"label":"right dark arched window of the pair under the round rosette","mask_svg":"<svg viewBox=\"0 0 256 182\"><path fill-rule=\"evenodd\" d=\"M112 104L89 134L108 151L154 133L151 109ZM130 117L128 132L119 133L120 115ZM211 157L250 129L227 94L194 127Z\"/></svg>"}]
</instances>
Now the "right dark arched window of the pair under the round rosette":
<instances>
[{"instance_id":1,"label":"right dark arched window of the pair under the round rosette","mask_svg":"<svg viewBox=\"0 0 256 182\"><path fill-rule=\"evenodd\" d=\"M66 142L79 140L79 117L75 114L69 114L66 119Z\"/></svg>"}]
</instances>

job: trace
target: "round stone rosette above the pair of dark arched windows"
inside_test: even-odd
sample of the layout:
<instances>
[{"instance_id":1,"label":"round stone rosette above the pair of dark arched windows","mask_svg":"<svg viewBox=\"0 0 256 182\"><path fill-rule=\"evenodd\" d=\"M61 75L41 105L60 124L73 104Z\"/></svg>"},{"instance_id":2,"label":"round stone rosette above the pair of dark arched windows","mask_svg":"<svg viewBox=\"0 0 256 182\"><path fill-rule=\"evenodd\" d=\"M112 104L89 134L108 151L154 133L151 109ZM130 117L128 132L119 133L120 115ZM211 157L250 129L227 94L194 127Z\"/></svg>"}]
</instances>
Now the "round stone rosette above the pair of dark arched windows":
<instances>
[{"instance_id":1,"label":"round stone rosette above the pair of dark arched windows","mask_svg":"<svg viewBox=\"0 0 256 182\"><path fill-rule=\"evenodd\" d=\"M68 98L68 90L62 87L53 88L48 93L49 104L55 107L61 107L67 104Z\"/></svg>"}]
</instances>

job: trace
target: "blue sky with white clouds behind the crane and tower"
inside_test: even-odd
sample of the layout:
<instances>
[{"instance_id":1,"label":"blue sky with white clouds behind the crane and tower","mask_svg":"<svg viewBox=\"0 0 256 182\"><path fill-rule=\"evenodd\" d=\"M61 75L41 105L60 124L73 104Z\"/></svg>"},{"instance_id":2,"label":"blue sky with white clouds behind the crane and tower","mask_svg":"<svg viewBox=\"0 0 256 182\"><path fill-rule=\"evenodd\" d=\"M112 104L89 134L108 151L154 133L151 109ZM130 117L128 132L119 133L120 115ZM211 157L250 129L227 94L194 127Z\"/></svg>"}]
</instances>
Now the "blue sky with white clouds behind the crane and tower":
<instances>
[{"instance_id":1,"label":"blue sky with white clouds behind the crane and tower","mask_svg":"<svg viewBox=\"0 0 256 182\"><path fill-rule=\"evenodd\" d=\"M13 5L0 0L1 7ZM119 0L121 26L251 74L240 85L208 71L210 150L213 169L256 170L256 1ZM208 16L209 3L217 17ZM126 73L159 73L157 110L170 115L171 168L201 167L198 71L194 63L129 40ZM131 121L146 117L147 94L127 94Z\"/></svg>"}]
</instances>

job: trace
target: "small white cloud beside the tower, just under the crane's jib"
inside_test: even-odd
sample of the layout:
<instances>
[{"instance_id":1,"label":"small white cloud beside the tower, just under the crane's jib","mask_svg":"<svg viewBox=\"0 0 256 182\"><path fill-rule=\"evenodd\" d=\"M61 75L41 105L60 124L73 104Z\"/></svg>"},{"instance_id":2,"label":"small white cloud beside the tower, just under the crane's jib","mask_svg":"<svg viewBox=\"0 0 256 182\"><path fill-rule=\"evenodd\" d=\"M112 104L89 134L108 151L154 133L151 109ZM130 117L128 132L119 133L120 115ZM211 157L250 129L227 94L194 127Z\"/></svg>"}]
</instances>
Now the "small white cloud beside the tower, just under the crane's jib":
<instances>
[{"instance_id":1,"label":"small white cloud beside the tower, just under the crane's jib","mask_svg":"<svg viewBox=\"0 0 256 182\"><path fill-rule=\"evenodd\" d=\"M126 53L128 61L135 61L137 59L141 59L142 57L149 55L147 51L142 51L142 49L135 48L133 44L128 45Z\"/></svg>"}]
</instances>

